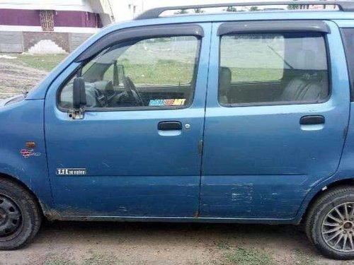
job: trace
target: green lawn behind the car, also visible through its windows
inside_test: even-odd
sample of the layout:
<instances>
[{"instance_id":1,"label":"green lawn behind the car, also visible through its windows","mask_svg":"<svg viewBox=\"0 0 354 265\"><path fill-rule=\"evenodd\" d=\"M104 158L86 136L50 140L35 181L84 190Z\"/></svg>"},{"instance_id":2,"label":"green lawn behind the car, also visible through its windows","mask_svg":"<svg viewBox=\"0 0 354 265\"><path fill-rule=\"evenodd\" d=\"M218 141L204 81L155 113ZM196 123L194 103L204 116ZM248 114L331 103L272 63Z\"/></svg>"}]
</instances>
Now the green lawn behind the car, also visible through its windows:
<instances>
[{"instance_id":1,"label":"green lawn behind the car, also visible through its windows","mask_svg":"<svg viewBox=\"0 0 354 265\"><path fill-rule=\"evenodd\" d=\"M65 54L7 54L16 59L0 58L0 61L6 61L11 64L19 64L33 69L42 71L51 71L59 64L67 55ZM142 54L139 54L142 55ZM151 57L151 54L150 54ZM136 84L171 84L190 83L193 76L194 64L193 60L180 61L176 58L159 59L149 64L149 61L141 61L122 59L118 64L122 64L125 68L125 74L132 78ZM233 82L244 81L275 81L282 78L282 69L271 68L239 68L229 67L232 71ZM105 79L113 79L113 67L110 67L105 73Z\"/></svg>"}]
</instances>

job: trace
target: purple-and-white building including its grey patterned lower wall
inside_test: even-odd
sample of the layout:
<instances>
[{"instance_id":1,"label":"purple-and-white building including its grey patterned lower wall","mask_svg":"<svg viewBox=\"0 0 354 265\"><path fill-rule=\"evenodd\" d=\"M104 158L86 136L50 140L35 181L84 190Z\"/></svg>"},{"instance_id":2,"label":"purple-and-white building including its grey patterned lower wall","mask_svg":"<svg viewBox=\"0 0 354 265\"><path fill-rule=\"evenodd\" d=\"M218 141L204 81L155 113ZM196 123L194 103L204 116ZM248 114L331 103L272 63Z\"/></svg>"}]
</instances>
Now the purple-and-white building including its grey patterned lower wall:
<instances>
[{"instance_id":1,"label":"purple-and-white building including its grey patterned lower wall","mask_svg":"<svg viewBox=\"0 0 354 265\"><path fill-rule=\"evenodd\" d=\"M141 11L134 0L0 0L0 52L72 52L103 26Z\"/></svg>"}]
</instances>

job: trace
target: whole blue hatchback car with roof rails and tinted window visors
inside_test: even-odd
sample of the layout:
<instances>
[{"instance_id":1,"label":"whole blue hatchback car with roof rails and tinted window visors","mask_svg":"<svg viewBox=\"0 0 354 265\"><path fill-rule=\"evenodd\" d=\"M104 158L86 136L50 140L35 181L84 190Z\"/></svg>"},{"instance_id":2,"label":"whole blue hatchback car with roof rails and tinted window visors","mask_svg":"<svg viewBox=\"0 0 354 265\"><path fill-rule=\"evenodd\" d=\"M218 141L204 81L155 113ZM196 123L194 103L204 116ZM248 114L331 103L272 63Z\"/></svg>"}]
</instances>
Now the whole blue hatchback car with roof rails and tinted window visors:
<instances>
[{"instance_id":1,"label":"whole blue hatchback car with roof rails and tinted window visors","mask_svg":"<svg viewBox=\"0 0 354 265\"><path fill-rule=\"evenodd\" d=\"M276 4L337 8L155 8L2 101L0 249L42 218L287 223L353 259L354 2Z\"/></svg>"}]
</instances>

